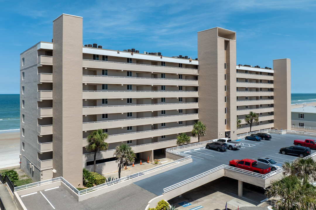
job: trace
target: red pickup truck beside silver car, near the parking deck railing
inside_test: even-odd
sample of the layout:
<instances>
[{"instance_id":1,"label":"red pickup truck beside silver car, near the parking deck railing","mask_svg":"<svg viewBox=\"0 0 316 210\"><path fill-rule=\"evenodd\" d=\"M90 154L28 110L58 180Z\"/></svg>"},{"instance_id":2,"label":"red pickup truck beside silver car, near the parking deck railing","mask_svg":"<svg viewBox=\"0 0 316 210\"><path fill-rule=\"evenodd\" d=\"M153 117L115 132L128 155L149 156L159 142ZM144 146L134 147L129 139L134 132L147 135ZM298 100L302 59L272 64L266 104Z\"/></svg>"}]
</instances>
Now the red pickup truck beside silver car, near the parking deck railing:
<instances>
[{"instance_id":1,"label":"red pickup truck beside silver car, near the parking deck railing","mask_svg":"<svg viewBox=\"0 0 316 210\"><path fill-rule=\"evenodd\" d=\"M269 173L271 170L269 166L251 159L231 160L229 165L261 174Z\"/></svg>"}]
</instances>

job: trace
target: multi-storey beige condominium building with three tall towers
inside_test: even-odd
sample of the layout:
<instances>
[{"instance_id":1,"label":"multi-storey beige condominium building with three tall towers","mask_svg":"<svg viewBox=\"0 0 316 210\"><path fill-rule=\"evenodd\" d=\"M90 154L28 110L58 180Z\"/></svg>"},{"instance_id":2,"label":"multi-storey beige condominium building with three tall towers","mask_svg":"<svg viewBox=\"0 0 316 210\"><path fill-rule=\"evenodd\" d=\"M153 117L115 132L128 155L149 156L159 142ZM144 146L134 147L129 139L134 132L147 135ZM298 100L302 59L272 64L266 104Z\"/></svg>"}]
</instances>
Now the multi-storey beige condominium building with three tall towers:
<instances>
[{"instance_id":1,"label":"multi-storey beige condominium building with three tall towers","mask_svg":"<svg viewBox=\"0 0 316 210\"><path fill-rule=\"evenodd\" d=\"M96 165L108 173L117 170L117 145L153 161L197 120L207 126L202 141L246 133L249 111L260 120L252 130L290 128L290 60L274 60L273 70L236 66L235 37L217 27L198 32L198 60L108 50L83 45L82 17L60 15L52 42L20 55L21 168L35 181L82 185L82 167L93 168L86 138L96 129L109 135Z\"/></svg>"}]
</instances>

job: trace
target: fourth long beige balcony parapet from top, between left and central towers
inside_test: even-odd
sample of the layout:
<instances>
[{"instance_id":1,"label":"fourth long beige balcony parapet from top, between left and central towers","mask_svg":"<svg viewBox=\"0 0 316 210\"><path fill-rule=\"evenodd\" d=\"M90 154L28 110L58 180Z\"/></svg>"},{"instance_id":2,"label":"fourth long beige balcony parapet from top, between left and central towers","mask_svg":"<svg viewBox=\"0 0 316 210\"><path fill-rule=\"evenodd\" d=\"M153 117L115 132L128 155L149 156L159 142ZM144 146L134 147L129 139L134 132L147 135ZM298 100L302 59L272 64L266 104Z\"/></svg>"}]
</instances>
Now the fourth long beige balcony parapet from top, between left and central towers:
<instances>
[{"instance_id":1,"label":"fourth long beige balcony parapet from top, between left and central towers","mask_svg":"<svg viewBox=\"0 0 316 210\"><path fill-rule=\"evenodd\" d=\"M174 104L142 104L121 106L86 106L82 109L83 115L94 115L101 113L125 113L140 111L159 111L177 109L198 109L198 103L174 103Z\"/></svg>"}]
</instances>

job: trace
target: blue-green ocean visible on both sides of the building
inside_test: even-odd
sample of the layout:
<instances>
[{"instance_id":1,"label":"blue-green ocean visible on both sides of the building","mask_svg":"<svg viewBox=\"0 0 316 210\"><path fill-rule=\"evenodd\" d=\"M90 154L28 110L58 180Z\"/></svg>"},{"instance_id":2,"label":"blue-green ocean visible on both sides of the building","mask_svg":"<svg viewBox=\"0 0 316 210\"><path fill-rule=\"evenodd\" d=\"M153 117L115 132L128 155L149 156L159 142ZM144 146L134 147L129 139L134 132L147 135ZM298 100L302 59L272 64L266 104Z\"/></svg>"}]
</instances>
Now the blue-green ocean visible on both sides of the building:
<instances>
[{"instance_id":1,"label":"blue-green ocean visible on both sides of the building","mask_svg":"<svg viewBox=\"0 0 316 210\"><path fill-rule=\"evenodd\" d=\"M291 94L291 104L316 102L316 94ZM0 133L20 130L20 95L0 94Z\"/></svg>"}]
</instances>

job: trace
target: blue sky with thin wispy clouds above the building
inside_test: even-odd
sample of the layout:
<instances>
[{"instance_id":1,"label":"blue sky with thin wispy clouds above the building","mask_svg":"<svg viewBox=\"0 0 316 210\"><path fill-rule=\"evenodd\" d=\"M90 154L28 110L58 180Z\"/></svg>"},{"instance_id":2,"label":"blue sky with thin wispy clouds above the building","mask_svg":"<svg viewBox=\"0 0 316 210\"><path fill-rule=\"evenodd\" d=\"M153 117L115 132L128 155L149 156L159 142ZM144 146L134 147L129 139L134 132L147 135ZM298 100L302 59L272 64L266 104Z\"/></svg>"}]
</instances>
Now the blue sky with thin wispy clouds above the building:
<instances>
[{"instance_id":1,"label":"blue sky with thin wispy clouds above the building","mask_svg":"<svg viewBox=\"0 0 316 210\"><path fill-rule=\"evenodd\" d=\"M291 59L292 93L316 93L316 2L0 0L0 94L19 93L20 53L52 40L60 14L83 17L83 44L197 58L197 31L236 31L237 65Z\"/></svg>"}]
</instances>

